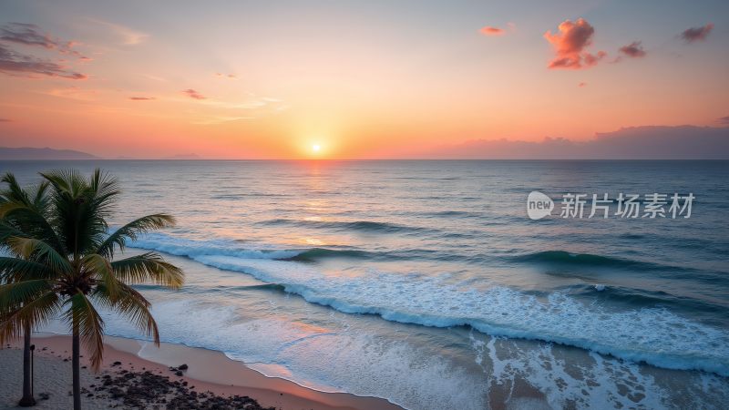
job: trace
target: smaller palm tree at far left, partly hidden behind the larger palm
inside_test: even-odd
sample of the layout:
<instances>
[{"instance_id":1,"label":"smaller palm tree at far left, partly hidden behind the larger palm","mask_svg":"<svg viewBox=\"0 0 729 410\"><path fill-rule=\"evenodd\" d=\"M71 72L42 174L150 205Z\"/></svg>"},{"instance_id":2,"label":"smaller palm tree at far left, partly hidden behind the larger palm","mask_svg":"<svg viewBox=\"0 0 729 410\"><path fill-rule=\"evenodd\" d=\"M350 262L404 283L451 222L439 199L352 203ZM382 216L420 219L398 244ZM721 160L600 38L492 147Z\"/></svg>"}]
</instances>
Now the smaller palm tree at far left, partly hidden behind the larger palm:
<instances>
[{"instance_id":1,"label":"smaller palm tree at far left, partly hidden behind the larger palm","mask_svg":"<svg viewBox=\"0 0 729 410\"><path fill-rule=\"evenodd\" d=\"M32 190L23 190L17 183L13 174L7 173L0 181L5 182L8 187L0 191L0 218L20 231L42 234L36 229L36 223L44 220L48 210L46 190L48 183L43 182L33 187ZM5 282L0 272L0 283ZM23 397L18 402L21 407L36 405L33 397L33 390L30 380L30 323L24 323L23 327Z\"/></svg>"}]
</instances>

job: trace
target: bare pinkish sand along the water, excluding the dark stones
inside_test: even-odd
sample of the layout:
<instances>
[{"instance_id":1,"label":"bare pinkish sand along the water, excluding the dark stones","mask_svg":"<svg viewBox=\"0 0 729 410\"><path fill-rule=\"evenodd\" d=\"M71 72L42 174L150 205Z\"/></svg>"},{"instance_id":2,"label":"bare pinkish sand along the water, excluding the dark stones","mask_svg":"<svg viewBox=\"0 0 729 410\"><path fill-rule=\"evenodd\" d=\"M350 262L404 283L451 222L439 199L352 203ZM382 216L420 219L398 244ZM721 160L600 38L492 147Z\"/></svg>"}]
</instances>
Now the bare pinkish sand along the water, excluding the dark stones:
<instances>
[{"instance_id":1,"label":"bare pinkish sand along the water, excluding the dark stones","mask_svg":"<svg viewBox=\"0 0 729 410\"><path fill-rule=\"evenodd\" d=\"M70 357L71 340L69 335L56 333L34 333L32 343L36 344L36 366L40 356L46 361L55 362L56 366L67 367L68 374L56 374L58 385L64 385L67 379L67 387L70 390L71 364ZM235 395L250 396L260 405L274 406L276 408L288 409L351 409L351 410L402 410L402 407L394 405L385 399L377 397L364 397L349 393L326 393L304 387L292 381L280 378L269 377L262 374L246 364L232 360L222 352L190 347L176 343L160 343L159 349L154 343L127 339L116 336L104 336L104 360L98 374L109 372L151 372L160 376L169 376L170 381L179 382L194 386L196 392L210 392L213 395L232 397ZM8 343L11 349L22 348L22 341L15 340ZM8 344L2 346L7 349ZM82 345L82 356L84 349ZM18 354L20 362L15 371L18 374L17 382L20 383L22 372L22 354ZM115 363L119 363L114 365ZM87 359L81 358L81 365L87 366ZM179 373L176 369L181 364L187 364L188 369ZM5 364L7 365L7 364ZM4 367L5 367L4 365ZM170 370L170 368L175 370ZM11 368L11 366L8 366ZM39 369L36 368L36 371ZM87 369L82 369L82 372ZM90 372L90 371L88 371ZM10 377L13 372L3 374ZM181 374L181 375L179 375ZM91 378L94 380L94 377ZM8 382L12 382L8 380ZM36 400L38 393L46 393L39 390L36 379ZM3 383L5 384L5 382ZM82 387L89 387L82 385ZM57 389L56 389L57 390ZM13 394L14 392L5 392ZM19 399L21 390L15 395ZM65 391L55 392L56 395L65 395ZM13 397L0 397L3 402ZM86 397L85 397L86 398ZM3 403L4 404L4 403ZM118 402L118 404L121 404Z\"/></svg>"}]
</instances>

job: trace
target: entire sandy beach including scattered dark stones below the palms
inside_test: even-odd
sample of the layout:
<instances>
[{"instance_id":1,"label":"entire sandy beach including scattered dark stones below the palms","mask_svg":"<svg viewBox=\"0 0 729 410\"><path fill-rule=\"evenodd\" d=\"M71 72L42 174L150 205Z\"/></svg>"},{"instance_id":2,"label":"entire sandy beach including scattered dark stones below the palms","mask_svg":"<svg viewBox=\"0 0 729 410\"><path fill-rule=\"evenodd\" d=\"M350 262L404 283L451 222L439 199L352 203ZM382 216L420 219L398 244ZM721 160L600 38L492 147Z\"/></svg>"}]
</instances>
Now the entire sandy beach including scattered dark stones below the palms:
<instances>
[{"instance_id":1,"label":"entire sandy beach including scattered dark stones below the palms","mask_svg":"<svg viewBox=\"0 0 729 410\"><path fill-rule=\"evenodd\" d=\"M69 336L34 335L36 408L72 407ZM280 378L267 377L220 352L179 344L106 337L98 374L81 364L83 403L100 408L281 408L399 409L373 397L323 393ZM0 408L16 407L22 392L20 341L0 349ZM83 350L82 350L83 354ZM187 369L178 367L187 364ZM162 392L167 391L167 394ZM236 398L237 396L237 398ZM250 397L250 398L249 398Z\"/></svg>"}]
</instances>

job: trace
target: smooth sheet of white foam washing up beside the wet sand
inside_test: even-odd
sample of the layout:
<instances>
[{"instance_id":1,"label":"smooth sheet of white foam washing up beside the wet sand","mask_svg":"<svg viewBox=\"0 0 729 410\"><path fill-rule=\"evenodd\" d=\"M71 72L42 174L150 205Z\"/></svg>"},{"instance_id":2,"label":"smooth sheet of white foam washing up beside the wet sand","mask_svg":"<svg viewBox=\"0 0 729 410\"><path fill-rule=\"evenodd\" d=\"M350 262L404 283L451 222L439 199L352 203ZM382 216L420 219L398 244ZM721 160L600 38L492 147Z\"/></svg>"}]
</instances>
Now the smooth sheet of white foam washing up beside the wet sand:
<instances>
[{"instance_id":1,"label":"smooth sheet of white foam washing up beside the wet sand","mask_svg":"<svg viewBox=\"0 0 729 410\"><path fill-rule=\"evenodd\" d=\"M273 315L245 320L231 305L192 301L158 302L152 310L163 342L218 350L269 376L385 397L410 409L485 408L482 379L413 344L350 332L345 323L323 328ZM104 320L110 334L139 337L118 315Z\"/></svg>"}]
</instances>

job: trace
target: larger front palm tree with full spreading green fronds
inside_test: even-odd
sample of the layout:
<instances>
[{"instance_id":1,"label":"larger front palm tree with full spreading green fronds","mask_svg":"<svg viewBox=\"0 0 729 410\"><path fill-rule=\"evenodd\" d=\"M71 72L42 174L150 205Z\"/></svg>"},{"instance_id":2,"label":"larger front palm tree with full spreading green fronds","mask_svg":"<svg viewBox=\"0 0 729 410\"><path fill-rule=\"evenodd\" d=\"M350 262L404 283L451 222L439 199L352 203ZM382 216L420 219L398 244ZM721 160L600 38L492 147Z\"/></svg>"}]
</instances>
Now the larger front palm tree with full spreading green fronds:
<instances>
[{"instance_id":1,"label":"larger front palm tree with full spreading green fronds","mask_svg":"<svg viewBox=\"0 0 729 410\"><path fill-rule=\"evenodd\" d=\"M0 343L60 316L71 329L74 409L81 408L79 350L83 342L90 363L102 362L104 321L100 306L120 313L159 345L150 303L130 285L140 282L178 289L183 272L155 252L114 259L139 233L171 226L167 214L148 215L108 233L108 218L118 198L115 179L97 169L89 179L77 171L42 173L52 188L43 234L32 235L0 223L0 243L14 256L5 258L0 272ZM10 272L10 273L8 273Z\"/></svg>"}]
</instances>

